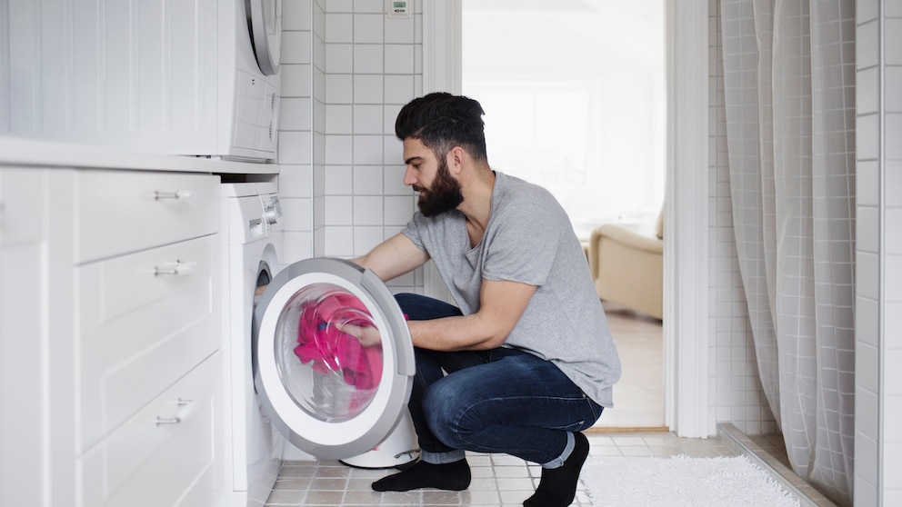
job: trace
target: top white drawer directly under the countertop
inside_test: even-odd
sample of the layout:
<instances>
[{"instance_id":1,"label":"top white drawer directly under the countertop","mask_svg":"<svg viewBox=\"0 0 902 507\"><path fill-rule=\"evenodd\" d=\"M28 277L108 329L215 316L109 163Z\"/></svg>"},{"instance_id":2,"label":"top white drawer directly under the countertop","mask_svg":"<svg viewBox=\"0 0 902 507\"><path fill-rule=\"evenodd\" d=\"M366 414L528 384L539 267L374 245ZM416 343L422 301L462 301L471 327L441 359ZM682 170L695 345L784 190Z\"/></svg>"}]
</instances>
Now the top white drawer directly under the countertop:
<instances>
[{"instance_id":1,"label":"top white drawer directly under the countertop","mask_svg":"<svg viewBox=\"0 0 902 507\"><path fill-rule=\"evenodd\" d=\"M75 263L137 252L219 230L219 177L79 171Z\"/></svg>"}]
</instances>

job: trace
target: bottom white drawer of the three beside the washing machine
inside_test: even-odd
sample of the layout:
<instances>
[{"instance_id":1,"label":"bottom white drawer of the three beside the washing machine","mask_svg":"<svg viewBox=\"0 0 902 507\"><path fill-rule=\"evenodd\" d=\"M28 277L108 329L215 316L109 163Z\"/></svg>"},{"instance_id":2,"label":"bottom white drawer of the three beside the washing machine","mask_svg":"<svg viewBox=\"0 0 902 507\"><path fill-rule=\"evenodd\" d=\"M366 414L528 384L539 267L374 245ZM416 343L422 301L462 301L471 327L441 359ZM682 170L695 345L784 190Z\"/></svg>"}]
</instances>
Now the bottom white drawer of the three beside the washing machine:
<instances>
[{"instance_id":1,"label":"bottom white drawer of the three beside the washing machine","mask_svg":"<svg viewBox=\"0 0 902 507\"><path fill-rule=\"evenodd\" d=\"M198 365L79 460L81 505L213 504L218 361Z\"/></svg>"}]
</instances>

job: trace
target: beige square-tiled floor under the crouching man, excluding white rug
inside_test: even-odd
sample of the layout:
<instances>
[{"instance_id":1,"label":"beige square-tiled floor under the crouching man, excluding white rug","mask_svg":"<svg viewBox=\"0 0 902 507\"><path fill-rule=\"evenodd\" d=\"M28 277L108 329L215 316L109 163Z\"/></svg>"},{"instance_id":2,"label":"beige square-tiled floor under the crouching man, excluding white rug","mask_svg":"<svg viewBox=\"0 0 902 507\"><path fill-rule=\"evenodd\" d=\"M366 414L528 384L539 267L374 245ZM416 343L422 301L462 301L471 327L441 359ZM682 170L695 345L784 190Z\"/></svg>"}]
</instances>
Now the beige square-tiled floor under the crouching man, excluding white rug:
<instances>
[{"instance_id":1,"label":"beige square-tiled floor under the crouching man, excluding white rug","mask_svg":"<svg viewBox=\"0 0 902 507\"><path fill-rule=\"evenodd\" d=\"M696 457L735 455L718 439L684 439L669 432L592 430L586 436L591 445L590 456L607 459L677 454ZM473 481L464 492L381 493L372 491L370 484L394 470L350 468L333 461L286 462L266 505L522 505L535 491L541 472L537 465L504 454L469 453L467 462ZM581 486L572 505L590 505Z\"/></svg>"}]
</instances>

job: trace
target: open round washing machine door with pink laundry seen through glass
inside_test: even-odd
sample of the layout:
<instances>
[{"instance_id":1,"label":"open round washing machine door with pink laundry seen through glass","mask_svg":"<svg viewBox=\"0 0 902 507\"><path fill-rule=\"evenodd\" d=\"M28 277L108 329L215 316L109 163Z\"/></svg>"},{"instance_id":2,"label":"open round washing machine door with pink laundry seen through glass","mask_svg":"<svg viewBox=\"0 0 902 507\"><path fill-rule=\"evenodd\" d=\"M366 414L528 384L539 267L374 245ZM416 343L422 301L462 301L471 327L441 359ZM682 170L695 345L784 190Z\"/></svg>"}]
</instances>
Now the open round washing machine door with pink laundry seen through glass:
<instances>
[{"instance_id":1,"label":"open round washing machine door with pink laundry seen through glass","mask_svg":"<svg viewBox=\"0 0 902 507\"><path fill-rule=\"evenodd\" d=\"M410 397L414 348L376 273L340 259L291 264L254 316L254 384L289 442L346 459L395 428Z\"/></svg>"}]
</instances>

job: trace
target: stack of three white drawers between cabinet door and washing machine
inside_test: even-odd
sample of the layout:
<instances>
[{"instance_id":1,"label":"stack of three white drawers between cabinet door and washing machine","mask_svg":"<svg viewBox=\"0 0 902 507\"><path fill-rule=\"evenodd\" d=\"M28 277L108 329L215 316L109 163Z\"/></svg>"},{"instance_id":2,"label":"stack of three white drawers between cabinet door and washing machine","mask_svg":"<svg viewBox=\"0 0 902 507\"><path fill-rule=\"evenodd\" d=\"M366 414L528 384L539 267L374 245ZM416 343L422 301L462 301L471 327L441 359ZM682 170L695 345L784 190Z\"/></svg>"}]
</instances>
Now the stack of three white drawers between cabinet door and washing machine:
<instances>
[{"instance_id":1,"label":"stack of three white drawers between cabinet door and washing machine","mask_svg":"<svg viewBox=\"0 0 902 507\"><path fill-rule=\"evenodd\" d=\"M212 505L219 178L75 173L81 504Z\"/></svg>"}]
</instances>

